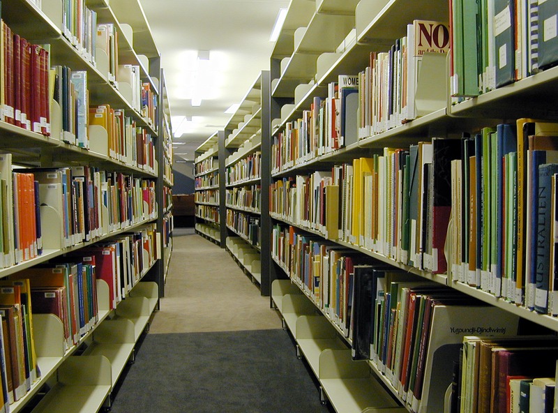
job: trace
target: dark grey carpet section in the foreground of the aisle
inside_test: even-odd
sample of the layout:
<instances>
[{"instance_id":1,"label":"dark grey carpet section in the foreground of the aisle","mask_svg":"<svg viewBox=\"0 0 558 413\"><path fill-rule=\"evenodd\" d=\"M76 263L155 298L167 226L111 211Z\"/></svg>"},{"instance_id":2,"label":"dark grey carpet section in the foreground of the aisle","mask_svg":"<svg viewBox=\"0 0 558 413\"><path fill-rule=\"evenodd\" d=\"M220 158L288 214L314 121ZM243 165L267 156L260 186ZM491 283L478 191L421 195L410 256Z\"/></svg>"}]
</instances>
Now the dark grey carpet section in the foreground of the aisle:
<instances>
[{"instance_id":1,"label":"dark grey carpet section in the foreground of the aisle","mask_svg":"<svg viewBox=\"0 0 558 413\"><path fill-rule=\"evenodd\" d=\"M328 413L287 331L147 334L113 413Z\"/></svg>"}]
</instances>

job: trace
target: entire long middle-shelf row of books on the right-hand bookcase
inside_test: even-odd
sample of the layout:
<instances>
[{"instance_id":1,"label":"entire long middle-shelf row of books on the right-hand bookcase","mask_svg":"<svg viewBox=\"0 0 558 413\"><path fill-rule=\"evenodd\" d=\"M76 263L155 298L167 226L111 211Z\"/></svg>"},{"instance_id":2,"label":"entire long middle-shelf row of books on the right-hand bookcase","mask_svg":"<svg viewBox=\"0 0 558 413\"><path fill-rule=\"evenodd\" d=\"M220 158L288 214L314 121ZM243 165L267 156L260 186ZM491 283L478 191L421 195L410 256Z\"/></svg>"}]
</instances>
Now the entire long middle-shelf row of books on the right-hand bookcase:
<instances>
[{"instance_id":1,"label":"entire long middle-shelf row of books on the right-hand bookcase","mask_svg":"<svg viewBox=\"0 0 558 413\"><path fill-rule=\"evenodd\" d=\"M555 133L557 123L518 119L461 140L384 148L272 183L270 211L556 315Z\"/></svg>"}]
</instances>

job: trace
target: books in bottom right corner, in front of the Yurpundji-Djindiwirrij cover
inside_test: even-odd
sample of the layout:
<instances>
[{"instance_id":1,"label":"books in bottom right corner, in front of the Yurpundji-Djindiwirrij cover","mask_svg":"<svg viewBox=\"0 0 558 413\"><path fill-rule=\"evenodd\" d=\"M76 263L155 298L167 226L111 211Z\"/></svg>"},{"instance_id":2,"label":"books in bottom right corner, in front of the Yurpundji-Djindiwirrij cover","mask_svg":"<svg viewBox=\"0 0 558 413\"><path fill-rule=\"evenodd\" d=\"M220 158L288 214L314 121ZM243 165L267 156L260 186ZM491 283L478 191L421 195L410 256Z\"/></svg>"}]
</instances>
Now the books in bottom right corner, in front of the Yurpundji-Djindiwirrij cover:
<instances>
[{"instance_id":1,"label":"books in bottom right corner, in front of the Yurpundji-Djindiwirrij cover","mask_svg":"<svg viewBox=\"0 0 558 413\"><path fill-rule=\"evenodd\" d=\"M554 336L465 336L451 413L552 412L557 344Z\"/></svg>"}]
</instances>

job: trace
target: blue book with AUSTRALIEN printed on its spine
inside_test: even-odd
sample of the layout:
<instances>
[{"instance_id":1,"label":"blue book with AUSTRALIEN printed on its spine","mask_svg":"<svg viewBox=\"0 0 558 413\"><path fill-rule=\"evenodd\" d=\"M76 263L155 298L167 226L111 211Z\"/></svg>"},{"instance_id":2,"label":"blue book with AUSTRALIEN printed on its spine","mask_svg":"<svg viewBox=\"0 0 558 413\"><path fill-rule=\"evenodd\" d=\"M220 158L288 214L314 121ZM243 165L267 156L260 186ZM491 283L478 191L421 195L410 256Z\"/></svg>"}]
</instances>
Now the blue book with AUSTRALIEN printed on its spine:
<instances>
[{"instance_id":1,"label":"blue book with AUSTRALIEN printed on its spine","mask_svg":"<svg viewBox=\"0 0 558 413\"><path fill-rule=\"evenodd\" d=\"M546 163L538 167L535 310L543 314L548 312L550 244L554 244L550 240L552 175L556 173L557 163Z\"/></svg>"}]
</instances>

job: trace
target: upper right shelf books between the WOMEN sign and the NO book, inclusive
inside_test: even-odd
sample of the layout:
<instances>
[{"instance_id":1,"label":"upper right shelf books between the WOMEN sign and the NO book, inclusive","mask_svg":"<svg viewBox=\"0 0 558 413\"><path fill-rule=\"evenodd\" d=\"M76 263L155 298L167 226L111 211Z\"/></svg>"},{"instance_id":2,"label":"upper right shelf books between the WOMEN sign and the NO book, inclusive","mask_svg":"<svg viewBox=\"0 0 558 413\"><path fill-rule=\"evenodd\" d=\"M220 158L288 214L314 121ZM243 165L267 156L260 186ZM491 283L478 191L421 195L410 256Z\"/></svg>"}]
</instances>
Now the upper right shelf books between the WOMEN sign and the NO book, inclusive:
<instances>
[{"instance_id":1,"label":"upper right shelf books between the WOMEN sign and the NO book, inclusive","mask_svg":"<svg viewBox=\"0 0 558 413\"><path fill-rule=\"evenodd\" d=\"M358 119L360 138L383 133L435 110L431 102L425 104L425 90L421 95L417 88L420 80L421 87L428 89L427 100L436 99L436 86L442 83L435 68L441 67L444 75L449 47L447 24L414 20L407 25L407 36L395 40L389 51L370 53L368 67L359 73L358 116L348 115L351 122ZM421 75L425 55L428 60ZM442 87L441 107L445 106L445 93Z\"/></svg>"}]
</instances>

